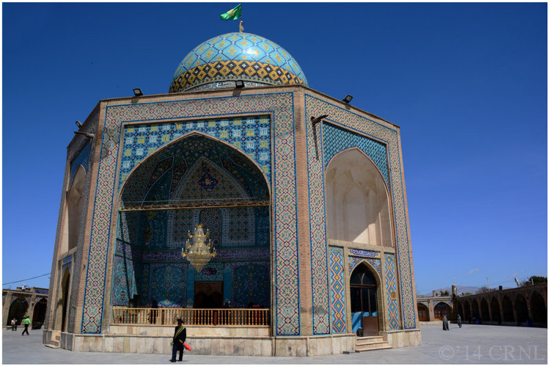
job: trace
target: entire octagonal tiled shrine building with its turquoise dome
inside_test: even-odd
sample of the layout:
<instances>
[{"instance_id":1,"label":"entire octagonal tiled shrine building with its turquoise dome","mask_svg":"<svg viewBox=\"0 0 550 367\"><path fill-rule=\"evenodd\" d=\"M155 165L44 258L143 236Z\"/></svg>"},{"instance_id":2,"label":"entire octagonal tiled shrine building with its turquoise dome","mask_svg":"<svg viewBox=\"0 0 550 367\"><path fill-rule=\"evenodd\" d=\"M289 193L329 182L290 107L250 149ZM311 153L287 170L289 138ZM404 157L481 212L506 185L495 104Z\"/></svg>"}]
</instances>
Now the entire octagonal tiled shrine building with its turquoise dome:
<instances>
[{"instance_id":1,"label":"entire octagonal tiled shrine building with its turquoise dome","mask_svg":"<svg viewBox=\"0 0 550 367\"><path fill-rule=\"evenodd\" d=\"M217 252L200 271L197 225ZM43 341L72 351L168 354L179 317L198 354L418 345L399 126L310 89L266 38L211 38L169 93L80 127L51 278Z\"/></svg>"}]
</instances>

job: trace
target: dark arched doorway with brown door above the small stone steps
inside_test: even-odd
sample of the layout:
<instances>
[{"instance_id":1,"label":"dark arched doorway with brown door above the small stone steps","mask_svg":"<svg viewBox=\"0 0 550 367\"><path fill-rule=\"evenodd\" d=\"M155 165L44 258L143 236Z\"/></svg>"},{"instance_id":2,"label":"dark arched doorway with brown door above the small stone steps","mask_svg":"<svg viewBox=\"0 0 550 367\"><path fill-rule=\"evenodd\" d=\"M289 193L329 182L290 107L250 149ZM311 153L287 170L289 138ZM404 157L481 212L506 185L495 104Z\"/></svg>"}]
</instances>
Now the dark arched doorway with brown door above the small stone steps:
<instances>
[{"instance_id":1,"label":"dark arched doorway with brown door above the small stone steps","mask_svg":"<svg viewBox=\"0 0 550 367\"><path fill-rule=\"evenodd\" d=\"M378 335L376 278L365 263L360 263L349 279L352 331L362 329L363 336Z\"/></svg>"}]
</instances>

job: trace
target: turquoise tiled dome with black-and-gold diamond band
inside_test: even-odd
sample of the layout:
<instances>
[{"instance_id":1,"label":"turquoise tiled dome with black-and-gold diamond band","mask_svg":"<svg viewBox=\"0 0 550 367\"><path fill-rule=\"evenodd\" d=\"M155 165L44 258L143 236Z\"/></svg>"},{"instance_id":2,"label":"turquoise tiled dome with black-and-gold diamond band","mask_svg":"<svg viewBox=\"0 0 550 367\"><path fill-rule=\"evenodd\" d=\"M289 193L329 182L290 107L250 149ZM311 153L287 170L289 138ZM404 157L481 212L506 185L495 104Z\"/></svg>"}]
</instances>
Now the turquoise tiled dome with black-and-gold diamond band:
<instances>
[{"instance_id":1,"label":"turquoise tiled dome with black-and-gold diamond band","mask_svg":"<svg viewBox=\"0 0 550 367\"><path fill-rule=\"evenodd\" d=\"M170 93L219 87L307 85L300 65L283 47L256 34L233 32L210 38L181 61Z\"/></svg>"}]
</instances>

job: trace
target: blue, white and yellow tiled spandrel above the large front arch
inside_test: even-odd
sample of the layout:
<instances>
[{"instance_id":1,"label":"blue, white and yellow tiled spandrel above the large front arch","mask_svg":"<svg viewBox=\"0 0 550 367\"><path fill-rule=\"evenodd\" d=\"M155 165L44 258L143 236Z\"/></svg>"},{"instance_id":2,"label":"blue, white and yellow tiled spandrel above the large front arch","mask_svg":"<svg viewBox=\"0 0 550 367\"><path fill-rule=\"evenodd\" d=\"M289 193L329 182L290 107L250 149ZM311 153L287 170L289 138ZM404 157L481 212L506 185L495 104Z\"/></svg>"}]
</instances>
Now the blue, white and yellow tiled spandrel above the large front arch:
<instances>
[{"instance_id":1,"label":"blue, white and yellow tiled spandrel above the large front arch","mask_svg":"<svg viewBox=\"0 0 550 367\"><path fill-rule=\"evenodd\" d=\"M165 122L127 126L124 129L124 145L122 146L122 163L118 183L119 190L122 187L123 181L138 163L155 153L158 148L192 131L199 131L236 147L259 164L265 175L270 178L271 131L269 115L218 120ZM192 148L192 146L186 148ZM212 146L212 148L219 149L221 147L216 145ZM177 148L170 151L170 153L175 152L177 152ZM168 152L165 152L163 157L166 157L166 153ZM178 153L181 155L183 152ZM227 155L227 153L224 155ZM189 159L190 157L187 158ZM175 157L174 159L177 162L181 162L181 158ZM185 165L186 162L183 164ZM177 167L179 170L183 169L183 172L187 168L188 166ZM175 187L174 184L172 186Z\"/></svg>"}]
</instances>

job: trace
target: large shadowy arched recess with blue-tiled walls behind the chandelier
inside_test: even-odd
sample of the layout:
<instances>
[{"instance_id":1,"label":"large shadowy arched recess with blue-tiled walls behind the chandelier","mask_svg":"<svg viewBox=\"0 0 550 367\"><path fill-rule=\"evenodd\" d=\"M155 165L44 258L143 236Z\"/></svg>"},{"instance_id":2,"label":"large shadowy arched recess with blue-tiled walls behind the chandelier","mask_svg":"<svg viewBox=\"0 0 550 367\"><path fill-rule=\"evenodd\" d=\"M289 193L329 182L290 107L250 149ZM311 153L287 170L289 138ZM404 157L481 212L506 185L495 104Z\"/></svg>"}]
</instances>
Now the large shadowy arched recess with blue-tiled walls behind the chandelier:
<instances>
[{"instance_id":1,"label":"large shadowy arched recess with blue-tiled walls behind the chandelier","mask_svg":"<svg viewBox=\"0 0 550 367\"><path fill-rule=\"evenodd\" d=\"M243 151L202 133L152 152L120 192L111 304L269 307L268 182ZM199 224L217 254L197 271L181 249Z\"/></svg>"}]
</instances>

